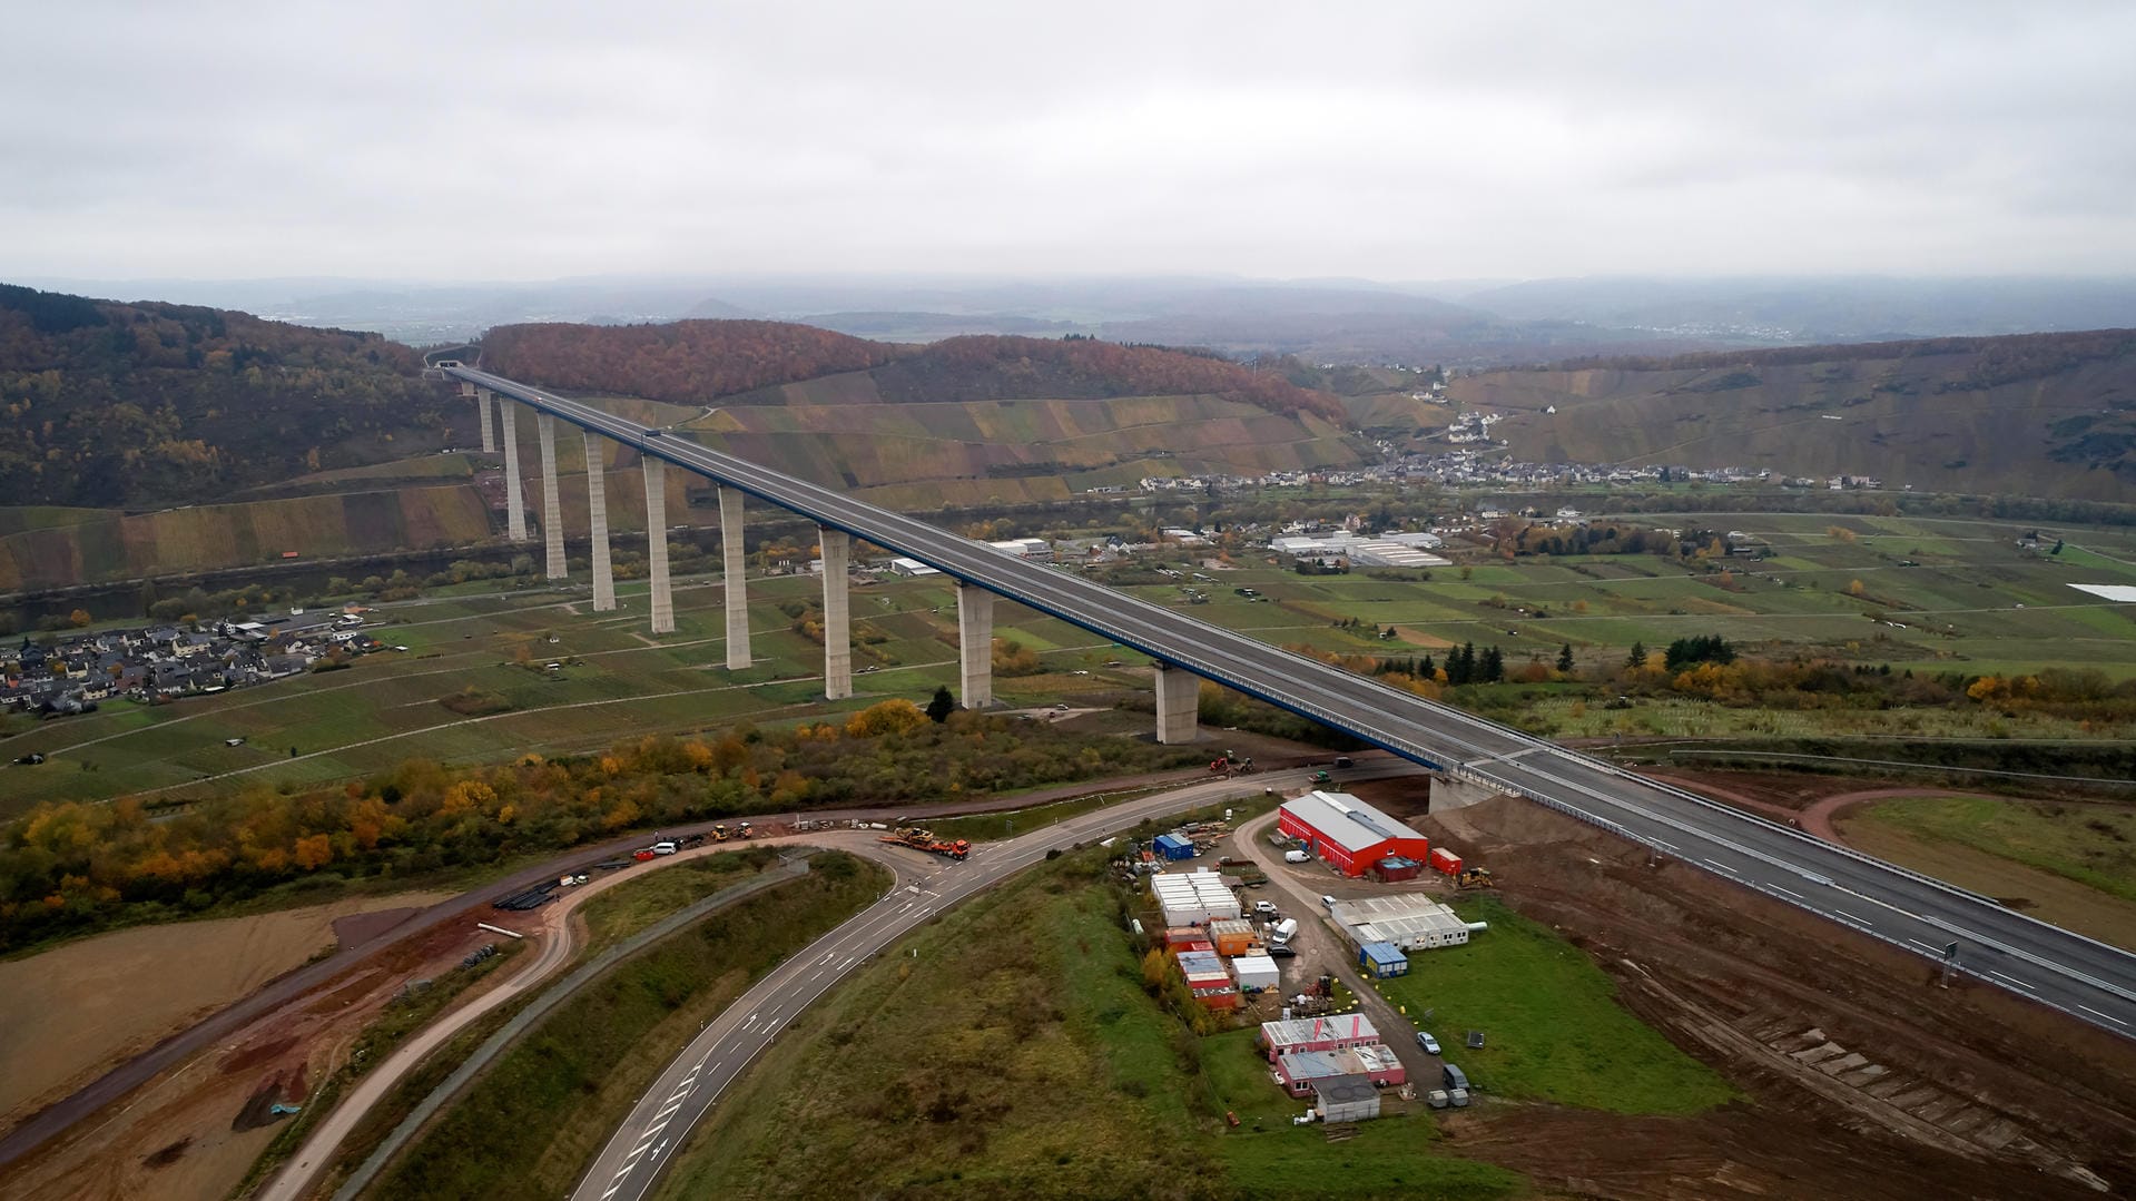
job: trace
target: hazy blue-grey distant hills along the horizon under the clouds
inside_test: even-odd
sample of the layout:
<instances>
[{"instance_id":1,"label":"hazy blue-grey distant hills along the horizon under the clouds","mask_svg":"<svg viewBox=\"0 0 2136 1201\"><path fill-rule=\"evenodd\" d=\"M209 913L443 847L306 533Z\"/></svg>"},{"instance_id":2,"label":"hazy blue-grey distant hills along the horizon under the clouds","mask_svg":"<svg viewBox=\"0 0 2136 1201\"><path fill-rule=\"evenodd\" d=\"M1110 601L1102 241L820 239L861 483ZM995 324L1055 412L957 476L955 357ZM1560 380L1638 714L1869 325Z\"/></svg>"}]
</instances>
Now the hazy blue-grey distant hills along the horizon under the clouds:
<instances>
[{"instance_id":1,"label":"hazy blue-grey distant hills along the horizon under the clouds","mask_svg":"<svg viewBox=\"0 0 2136 1201\"><path fill-rule=\"evenodd\" d=\"M972 276L673 276L525 284L380 280L41 280L182 299L410 344L500 325L763 318L882 342L965 333L1213 346L1314 363L1504 368L1583 355L1880 342L2136 325L2132 278L1247 280Z\"/></svg>"}]
</instances>

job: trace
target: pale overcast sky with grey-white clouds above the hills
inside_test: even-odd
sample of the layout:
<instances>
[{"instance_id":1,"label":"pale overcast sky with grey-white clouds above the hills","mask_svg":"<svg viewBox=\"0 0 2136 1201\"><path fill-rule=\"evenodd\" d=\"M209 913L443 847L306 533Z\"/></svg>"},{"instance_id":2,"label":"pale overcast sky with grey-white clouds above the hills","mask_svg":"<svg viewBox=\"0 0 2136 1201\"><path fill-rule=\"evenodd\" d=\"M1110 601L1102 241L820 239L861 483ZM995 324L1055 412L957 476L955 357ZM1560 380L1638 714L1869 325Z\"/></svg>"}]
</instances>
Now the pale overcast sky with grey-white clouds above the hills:
<instances>
[{"instance_id":1,"label":"pale overcast sky with grey-white clouds above the hills","mask_svg":"<svg viewBox=\"0 0 2136 1201\"><path fill-rule=\"evenodd\" d=\"M2136 271L2136 4L11 4L0 280Z\"/></svg>"}]
</instances>

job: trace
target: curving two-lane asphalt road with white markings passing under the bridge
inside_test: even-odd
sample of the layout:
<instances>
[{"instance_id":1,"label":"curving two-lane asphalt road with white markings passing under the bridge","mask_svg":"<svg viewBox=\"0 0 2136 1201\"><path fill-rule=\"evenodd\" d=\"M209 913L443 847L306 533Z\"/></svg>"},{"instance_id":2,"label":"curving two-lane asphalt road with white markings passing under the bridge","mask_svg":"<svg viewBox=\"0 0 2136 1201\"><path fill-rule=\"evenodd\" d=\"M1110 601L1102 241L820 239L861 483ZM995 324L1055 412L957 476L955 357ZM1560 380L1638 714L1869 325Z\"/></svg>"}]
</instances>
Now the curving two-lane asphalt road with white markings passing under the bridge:
<instances>
[{"instance_id":1,"label":"curving two-lane asphalt road with white markings passing under the bridge","mask_svg":"<svg viewBox=\"0 0 2136 1201\"><path fill-rule=\"evenodd\" d=\"M1412 774L1408 763L1361 763L1350 780ZM1305 771L1269 771L1241 780L1211 780L1062 821L1006 842L972 848L963 863L931 859L916 878L901 880L884 900L812 942L756 981L720 1017L669 1062L666 1071L617 1126L594 1167L572 1192L575 1201L639 1201L649 1197L660 1173L690 1128L720 1101L726 1086L750 1066L771 1039L818 996L857 966L867 964L895 938L972 893L1038 863L1047 851L1074 846L1132 827L1145 816L1175 814L1262 789L1297 791ZM916 851L910 855L918 855Z\"/></svg>"}]
</instances>

